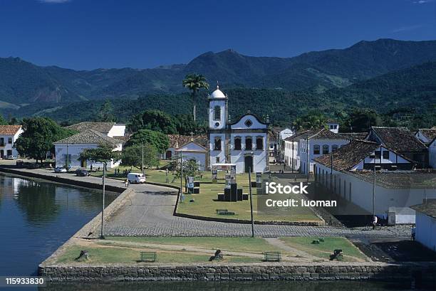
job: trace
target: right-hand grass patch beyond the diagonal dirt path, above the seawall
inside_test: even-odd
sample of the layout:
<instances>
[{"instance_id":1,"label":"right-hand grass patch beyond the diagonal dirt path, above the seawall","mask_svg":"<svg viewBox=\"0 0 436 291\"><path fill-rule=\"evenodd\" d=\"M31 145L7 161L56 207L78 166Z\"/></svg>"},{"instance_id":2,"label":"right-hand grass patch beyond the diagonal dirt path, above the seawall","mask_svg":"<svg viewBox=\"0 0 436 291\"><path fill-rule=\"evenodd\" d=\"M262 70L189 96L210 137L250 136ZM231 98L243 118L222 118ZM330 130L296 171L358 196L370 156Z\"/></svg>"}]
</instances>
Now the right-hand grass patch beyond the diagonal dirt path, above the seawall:
<instances>
[{"instance_id":1,"label":"right-hand grass patch beyond the diagonal dirt path, above the seawall","mask_svg":"<svg viewBox=\"0 0 436 291\"><path fill-rule=\"evenodd\" d=\"M328 260L333 250L340 249L343 252L343 261L355 262L358 260L368 260L368 258L346 238L324 238L324 242L313 244L312 241L317 239L318 237L280 238L280 240L284 241L284 243L292 248L303 250L318 258Z\"/></svg>"}]
</instances>

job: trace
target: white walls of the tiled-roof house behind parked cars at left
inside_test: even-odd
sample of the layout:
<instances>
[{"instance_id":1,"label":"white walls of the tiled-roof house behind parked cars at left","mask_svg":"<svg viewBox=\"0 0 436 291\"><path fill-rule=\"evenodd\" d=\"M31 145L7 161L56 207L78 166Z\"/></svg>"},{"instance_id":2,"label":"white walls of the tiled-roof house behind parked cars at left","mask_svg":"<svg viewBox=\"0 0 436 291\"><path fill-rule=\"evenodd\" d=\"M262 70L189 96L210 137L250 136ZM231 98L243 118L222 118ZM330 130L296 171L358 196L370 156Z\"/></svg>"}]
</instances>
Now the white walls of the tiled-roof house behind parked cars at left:
<instances>
[{"instance_id":1,"label":"white walls of the tiled-roof house behind parked cars at left","mask_svg":"<svg viewBox=\"0 0 436 291\"><path fill-rule=\"evenodd\" d=\"M78 160L83 149L95 149L98 147L98 144L68 144L68 163L71 168L81 168L81 161ZM121 151L122 144L118 144L118 146L113 149L114 151ZM66 154L67 154L67 145L66 144L56 144L55 145L55 153L56 153L56 166L66 166ZM88 161L86 163L86 168L89 169L90 165L93 165L93 168L103 167L103 163L95 163ZM119 166L120 161L117 162L109 162L108 167L113 168L114 166Z\"/></svg>"}]
</instances>

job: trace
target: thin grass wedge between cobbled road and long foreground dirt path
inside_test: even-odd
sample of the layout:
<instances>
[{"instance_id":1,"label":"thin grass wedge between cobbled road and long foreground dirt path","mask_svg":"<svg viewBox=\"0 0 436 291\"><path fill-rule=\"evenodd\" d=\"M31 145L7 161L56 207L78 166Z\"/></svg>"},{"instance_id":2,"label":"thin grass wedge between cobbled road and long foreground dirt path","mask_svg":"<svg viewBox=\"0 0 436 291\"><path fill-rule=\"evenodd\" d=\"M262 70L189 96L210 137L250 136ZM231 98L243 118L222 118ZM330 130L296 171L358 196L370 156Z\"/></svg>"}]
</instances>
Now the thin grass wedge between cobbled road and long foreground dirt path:
<instances>
[{"instance_id":1,"label":"thin grass wedge between cobbled road and long foreground dirt path","mask_svg":"<svg viewBox=\"0 0 436 291\"><path fill-rule=\"evenodd\" d=\"M220 237L110 237L109 240L130 241L135 243L158 243L162 245L190 245L195 247L210 248L211 250L232 250L263 253L264 251L280 251L270 245L263 238L220 238Z\"/></svg>"}]
</instances>

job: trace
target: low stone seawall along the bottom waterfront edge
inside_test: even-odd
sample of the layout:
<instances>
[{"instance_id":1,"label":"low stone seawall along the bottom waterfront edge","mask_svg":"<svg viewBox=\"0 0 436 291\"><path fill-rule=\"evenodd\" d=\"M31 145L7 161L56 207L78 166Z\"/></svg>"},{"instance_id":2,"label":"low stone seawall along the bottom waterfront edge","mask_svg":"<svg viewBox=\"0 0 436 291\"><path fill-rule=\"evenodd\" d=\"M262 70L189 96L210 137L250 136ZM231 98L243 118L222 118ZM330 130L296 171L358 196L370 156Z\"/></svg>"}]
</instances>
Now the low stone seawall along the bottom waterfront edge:
<instances>
[{"instance_id":1,"label":"low stone seawall along the bottom waterfront edge","mask_svg":"<svg viewBox=\"0 0 436 291\"><path fill-rule=\"evenodd\" d=\"M432 281L436 263L269 263L260 265L43 265L49 281L187 280L423 280Z\"/></svg>"}]
</instances>

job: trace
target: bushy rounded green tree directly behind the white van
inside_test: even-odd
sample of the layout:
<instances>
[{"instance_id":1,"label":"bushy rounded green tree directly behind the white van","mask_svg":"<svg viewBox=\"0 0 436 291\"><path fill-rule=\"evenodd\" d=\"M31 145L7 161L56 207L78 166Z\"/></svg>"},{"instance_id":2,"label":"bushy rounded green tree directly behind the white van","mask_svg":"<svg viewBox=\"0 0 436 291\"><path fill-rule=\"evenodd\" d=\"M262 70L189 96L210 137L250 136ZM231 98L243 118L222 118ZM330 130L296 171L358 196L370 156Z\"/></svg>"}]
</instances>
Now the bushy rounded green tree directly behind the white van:
<instances>
[{"instance_id":1,"label":"bushy rounded green tree directly behind the white van","mask_svg":"<svg viewBox=\"0 0 436 291\"><path fill-rule=\"evenodd\" d=\"M123 166L134 166L141 170L142 166L142 145L135 144L123 149L121 153L121 164ZM144 166L147 168L159 166L157 150L150 144L144 144Z\"/></svg>"}]
</instances>

